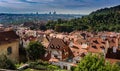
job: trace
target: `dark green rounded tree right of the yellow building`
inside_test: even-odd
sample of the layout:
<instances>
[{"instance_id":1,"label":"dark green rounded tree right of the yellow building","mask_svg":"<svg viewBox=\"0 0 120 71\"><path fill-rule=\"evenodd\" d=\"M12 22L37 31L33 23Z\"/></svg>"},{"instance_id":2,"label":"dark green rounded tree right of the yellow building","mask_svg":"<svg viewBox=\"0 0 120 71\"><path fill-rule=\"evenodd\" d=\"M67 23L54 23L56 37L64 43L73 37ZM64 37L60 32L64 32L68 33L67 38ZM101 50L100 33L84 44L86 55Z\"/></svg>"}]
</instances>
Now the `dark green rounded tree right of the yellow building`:
<instances>
[{"instance_id":1,"label":"dark green rounded tree right of the yellow building","mask_svg":"<svg viewBox=\"0 0 120 71\"><path fill-rule=\"evenodd\" d=\"M28 60L37 60L45 54L45 47L39 42L30 42L26 48Z\"/></svg>"}]
</instances>

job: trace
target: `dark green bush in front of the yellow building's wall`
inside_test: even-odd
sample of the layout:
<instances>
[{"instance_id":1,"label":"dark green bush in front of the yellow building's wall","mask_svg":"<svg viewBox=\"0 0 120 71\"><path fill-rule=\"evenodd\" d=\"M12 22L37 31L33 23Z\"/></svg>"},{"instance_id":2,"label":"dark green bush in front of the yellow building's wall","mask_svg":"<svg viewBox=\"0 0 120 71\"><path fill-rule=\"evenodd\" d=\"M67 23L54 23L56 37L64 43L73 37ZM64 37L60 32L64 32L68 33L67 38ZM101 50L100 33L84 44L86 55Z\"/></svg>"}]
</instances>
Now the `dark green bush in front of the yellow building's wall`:
<instances>
[{"instance_id":1,"label":"dark green bush in front of the yellow building's wall","mask_svg":"<svg viewBox=\"0 0 120 71\"><path fill-rule=\"evenodd\" d=\"M15 64L6 56L0 55L0 68L15 70Z\"/></svg>"}]
</instances>

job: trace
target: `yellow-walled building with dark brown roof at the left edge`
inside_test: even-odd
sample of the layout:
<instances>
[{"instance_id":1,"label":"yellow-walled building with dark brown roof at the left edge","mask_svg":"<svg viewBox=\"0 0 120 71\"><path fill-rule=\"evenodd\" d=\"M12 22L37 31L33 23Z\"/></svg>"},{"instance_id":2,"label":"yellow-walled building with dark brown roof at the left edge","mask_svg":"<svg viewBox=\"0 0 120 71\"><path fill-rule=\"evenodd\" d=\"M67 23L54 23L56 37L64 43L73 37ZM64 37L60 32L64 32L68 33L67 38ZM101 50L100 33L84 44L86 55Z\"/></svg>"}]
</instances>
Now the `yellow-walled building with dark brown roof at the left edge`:
<instances>
[{"instance_id":1,"label":"yellow-walled building with dark brown roof at the left edge","mask_svg":"<svg viewBox=\"0 0 120 71\"><path fill-rule=\"evenodd\" d=\"M0 32L0 55L19 61L19 37L14 31Z\"/></svg>"}]
</instances>

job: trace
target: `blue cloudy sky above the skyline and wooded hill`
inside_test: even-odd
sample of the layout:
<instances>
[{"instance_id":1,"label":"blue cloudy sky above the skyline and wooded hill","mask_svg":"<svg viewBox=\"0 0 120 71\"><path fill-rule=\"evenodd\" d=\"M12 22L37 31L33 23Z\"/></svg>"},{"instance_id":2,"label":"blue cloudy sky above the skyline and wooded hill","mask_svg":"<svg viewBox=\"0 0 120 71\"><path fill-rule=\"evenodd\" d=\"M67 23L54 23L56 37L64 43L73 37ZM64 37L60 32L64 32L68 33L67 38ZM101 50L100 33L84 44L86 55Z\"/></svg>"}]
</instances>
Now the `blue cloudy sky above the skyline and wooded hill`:
<instances>
[{"instance_id":1,"label":"blue cloudy sky above the skyline and wooded hill","mask_svg":"<svg viewBox=\"0 0 120 71\"><path fill-rule=\"evenodd\" d=\"M89 14L120 5L120 0L0 0L0 13Z\"/></svg>"}]
</instances>

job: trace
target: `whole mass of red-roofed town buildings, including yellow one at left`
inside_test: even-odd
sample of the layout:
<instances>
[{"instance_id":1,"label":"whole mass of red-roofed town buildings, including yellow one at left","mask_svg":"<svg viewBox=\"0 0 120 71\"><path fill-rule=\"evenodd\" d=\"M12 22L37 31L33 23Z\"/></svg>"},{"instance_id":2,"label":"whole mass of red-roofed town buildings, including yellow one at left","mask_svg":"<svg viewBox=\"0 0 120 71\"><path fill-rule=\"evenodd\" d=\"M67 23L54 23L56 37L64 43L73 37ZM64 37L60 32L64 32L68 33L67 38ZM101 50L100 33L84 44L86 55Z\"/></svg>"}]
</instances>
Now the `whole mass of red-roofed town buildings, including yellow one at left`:
<instances>
[{"instance_id":1,"label":"whole mass of red-roofed town buildings, including yellow one at left","mask_svg":"<svg viewBox=\"0 0 120 71\"><path fill-rule=\"evenodd\" d=\"M19 36L17 36L17 35ZM43 60L70 70L88 53L103 54L111 63L120 61L120 33L86 32L57 33L53 30L35 31L17 28L0 31L0 54L19 59L19 43L24 48L29 42L39 41L46 49Z\"/></svg>"}]
</instances>

